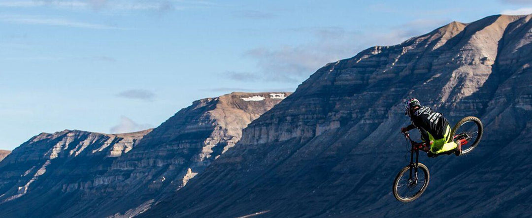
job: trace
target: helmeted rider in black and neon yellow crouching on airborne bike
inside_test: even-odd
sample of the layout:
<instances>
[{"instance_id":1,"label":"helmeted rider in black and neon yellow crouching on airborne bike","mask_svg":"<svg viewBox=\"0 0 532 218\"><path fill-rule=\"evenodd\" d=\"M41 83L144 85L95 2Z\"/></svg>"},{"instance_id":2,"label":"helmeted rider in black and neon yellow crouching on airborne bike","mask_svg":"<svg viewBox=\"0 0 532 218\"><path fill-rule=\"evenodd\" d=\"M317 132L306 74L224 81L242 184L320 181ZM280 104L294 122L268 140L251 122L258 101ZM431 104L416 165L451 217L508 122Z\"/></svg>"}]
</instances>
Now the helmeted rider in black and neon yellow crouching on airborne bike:
<instances>
[{"instance_id":1,"label":"helmeted rider in black and neon yellow crouching on airborne bike","mask_svg":"<svg viewBox=\"0 0 532 218\"><path fill-rule=\"evenodd\" d=\"M418 128L421 133L421 139L426 145L423 150L429 156L450 151L456 156L460 155L462 152L461 145L467 143L467 141L452 141L451 127L442 114L431 110L430 107L421 106L419 100L415 98L408 100L405 107L405 115L410 116L412 124L408 125L408 127L401 128L401 132L404 133ZM433 141L432 145L430 145L430 141Z\"/></svg>"}]
</instances>

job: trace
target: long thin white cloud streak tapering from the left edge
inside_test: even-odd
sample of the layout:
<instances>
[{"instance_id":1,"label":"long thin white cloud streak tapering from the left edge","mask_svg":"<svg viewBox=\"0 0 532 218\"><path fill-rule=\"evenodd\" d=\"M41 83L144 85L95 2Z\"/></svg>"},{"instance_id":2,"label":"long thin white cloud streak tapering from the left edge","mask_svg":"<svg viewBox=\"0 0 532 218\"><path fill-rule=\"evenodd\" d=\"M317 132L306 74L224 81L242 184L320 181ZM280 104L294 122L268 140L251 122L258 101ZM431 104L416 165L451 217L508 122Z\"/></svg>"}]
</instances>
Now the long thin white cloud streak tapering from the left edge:
<instances>
[{"instance_id":1,"label":"long thin white cloud streak tapering from the left edge","mask_svg":"<svg viewBox=\"0 0 532 218\"><path fill-rule=\"evenodd\" d=\"M62 18L43 18L37 16L21 16L21 15L0 15L0 22L15 23L15 24L34 24L45 26L61 26L73 28L86 29L123 29L119 27L107 26L105 24L87 23L80 21L73 21Z\"/></svg>"}]
</instances>

